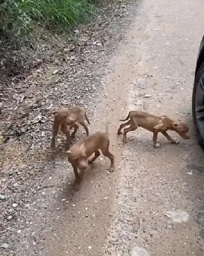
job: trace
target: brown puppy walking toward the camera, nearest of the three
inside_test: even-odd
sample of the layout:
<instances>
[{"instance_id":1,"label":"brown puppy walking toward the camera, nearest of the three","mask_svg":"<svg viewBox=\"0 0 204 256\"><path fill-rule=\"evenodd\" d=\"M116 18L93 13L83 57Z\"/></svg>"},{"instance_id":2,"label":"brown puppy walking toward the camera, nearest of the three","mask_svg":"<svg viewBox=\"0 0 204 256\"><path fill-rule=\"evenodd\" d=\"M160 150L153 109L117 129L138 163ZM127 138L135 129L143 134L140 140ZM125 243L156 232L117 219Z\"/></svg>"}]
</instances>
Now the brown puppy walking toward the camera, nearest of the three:
<instances>
[{"instance_id":1,"label":"brown puppy walking toward the camera, nearest of the three","mask_svg":"<svg viewBox=\"0 0 204 256\"><path fill-rule=\"evenodd\" d=\"M75 173L75 179L77 184L80 183L80 176L78 169L84 171L88 167L88 163L93 163L96 158L99 157L100 151L102 151L105 157L111 160L110 172L114 171L114 156L109 151L110 140L108 138L108 130L106 132L98 131L88 137L81 139L76 145L72 146L70 151L66 151L68 161L72 164ZM88 158L92 155L92 159L88 161ZM77 187L78 188L78 187Z\"/></svg>"}]
</instances>

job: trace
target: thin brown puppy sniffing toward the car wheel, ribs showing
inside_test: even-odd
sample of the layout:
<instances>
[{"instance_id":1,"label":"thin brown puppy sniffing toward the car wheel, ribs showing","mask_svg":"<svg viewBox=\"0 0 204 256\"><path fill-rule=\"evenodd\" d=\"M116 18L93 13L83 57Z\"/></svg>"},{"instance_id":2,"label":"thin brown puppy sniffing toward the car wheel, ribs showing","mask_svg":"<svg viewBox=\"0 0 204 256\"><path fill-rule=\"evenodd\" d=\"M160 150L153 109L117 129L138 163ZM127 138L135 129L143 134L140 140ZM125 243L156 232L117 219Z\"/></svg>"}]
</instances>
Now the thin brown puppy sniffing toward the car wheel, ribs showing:
<instances>
[{"instance_id":1,"label":"thin brown puppy sniffing toward the car wheel, ribs showing","mask_svg":"<svg viewBox=\"0 0 204 256\"><path fill-rule=\"evenodd\" d=\"M142 127L148 131L153 132L153 143L154 147L159 148L159 143L157 142L158 133L162 133L163 136L166 137L171 143L178 144L179 141L174 140L171 136L166 133L166 131L175 131L178 133L183 139L187 140L190 138L189 136L189 128L187 123L185 122L174 122L174 120L170 119L167 116L154 116L152 114L145 113L143 111L130 111L126 119L120 121L128 122L123 123L118 128L118 134L121 134L121 129L127 125L130 125L128 128L123 130L123 142L126 143L126 134L129 131L134 131L138 127Z\"/></svg>"}]
</instances>

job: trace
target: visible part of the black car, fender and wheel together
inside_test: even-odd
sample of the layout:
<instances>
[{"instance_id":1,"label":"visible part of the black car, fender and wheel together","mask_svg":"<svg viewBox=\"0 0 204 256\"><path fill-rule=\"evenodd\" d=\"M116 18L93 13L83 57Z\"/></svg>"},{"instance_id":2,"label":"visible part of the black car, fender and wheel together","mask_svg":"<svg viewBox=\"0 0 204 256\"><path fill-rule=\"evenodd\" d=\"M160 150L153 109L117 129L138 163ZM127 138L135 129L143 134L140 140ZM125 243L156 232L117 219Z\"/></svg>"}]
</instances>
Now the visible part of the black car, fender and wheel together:
<instances>
[{"instance_id":1,"label":"visible part of the black car, fender and wheel together","mask_svg":"<svg viewBox=\"0 0 204 256\"><path fill-rule=\"evenodd\" d=\"M199 47L192 94L192 116L200 145L204 146L204 35Z\"/></svg>"}]
</instances>

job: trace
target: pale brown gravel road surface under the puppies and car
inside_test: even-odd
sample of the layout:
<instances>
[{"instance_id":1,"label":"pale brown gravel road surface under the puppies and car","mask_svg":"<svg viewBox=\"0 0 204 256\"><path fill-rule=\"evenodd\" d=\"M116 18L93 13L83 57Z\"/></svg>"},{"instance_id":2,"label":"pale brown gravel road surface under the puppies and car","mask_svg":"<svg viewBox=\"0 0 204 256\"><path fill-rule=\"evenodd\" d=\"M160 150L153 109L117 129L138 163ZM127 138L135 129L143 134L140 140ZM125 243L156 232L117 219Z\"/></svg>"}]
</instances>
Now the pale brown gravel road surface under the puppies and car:
<instances>
[{"instance_id":1,"label":"pale brown gravel road surface under the puppies and car","mask_svg":"<svg viewBox=\"0 0 204 256\"><path fill-rule=\"evenodd\" d=\"M131 6L117 51L100 69L89 126L105 130L109 122L115 172L108 173L109 160L101 155L75 192L66 158L52 159L40 179L54 186L36 189L34 214L27 228L17 230L16 251L3 248L2 239L2 255L204 255L203 151L191 116L203 9L203 0ZM173 145L159 136L161 147L154 148L152 134L138 128L123 145L118 119L133 109L186 119L191 139Z\"/></svg>"}]
</instances>

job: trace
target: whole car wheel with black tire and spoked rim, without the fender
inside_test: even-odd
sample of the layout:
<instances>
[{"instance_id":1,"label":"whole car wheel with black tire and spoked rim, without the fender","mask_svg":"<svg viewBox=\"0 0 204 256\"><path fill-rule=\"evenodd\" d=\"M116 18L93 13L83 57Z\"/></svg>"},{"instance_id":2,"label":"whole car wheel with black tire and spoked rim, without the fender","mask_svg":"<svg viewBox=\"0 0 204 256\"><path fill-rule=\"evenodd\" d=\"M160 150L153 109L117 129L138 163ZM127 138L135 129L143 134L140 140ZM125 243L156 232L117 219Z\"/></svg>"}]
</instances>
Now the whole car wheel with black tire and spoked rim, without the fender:
<instances>
[{"instance_id":1,"label":"whole car wheel with black tire and spoked rim, without the fender","mask_svg":"<svg viewBox=\"0 0 204 256\"><path fill-rule=\"evenodd\" d=\"M192 116L193 116L193 124L195 126L196 135L198 138L198 143L204 147L204 96L199 94L198 90L201 90L200 81L203 80L204 86L204 62L200 66L193 85L193 94L192 94ZM204 95L204 88L203 95ZM199 97L199 105L197 106L197 101ZM201 103L202 102L202 103ZM198 118L199 114L199 118Z\"/></svg>"}]
</instances>

